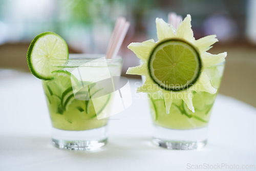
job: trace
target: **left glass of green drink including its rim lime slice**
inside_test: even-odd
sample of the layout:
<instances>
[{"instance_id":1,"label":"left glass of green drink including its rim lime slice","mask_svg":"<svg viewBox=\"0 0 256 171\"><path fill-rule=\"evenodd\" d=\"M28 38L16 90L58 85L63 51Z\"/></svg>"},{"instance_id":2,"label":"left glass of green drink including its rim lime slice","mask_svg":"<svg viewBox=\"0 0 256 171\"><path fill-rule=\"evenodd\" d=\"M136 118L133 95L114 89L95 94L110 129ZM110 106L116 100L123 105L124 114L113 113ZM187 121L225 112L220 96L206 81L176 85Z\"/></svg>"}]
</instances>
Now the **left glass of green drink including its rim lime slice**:
<instances>
[{"instance_id":1,"label":"left glass of green drink including its rim lime slice","mask_svg":"<svg viewBox=\"0 0 256 171\"><path fill-rule=\"evenodd\" d=\"M54 145L74 150L105 145L122 58L69 54L65 40L44 32L31 42L27 59L31 73L42 80Z\"/></svg>"}]
</instances>

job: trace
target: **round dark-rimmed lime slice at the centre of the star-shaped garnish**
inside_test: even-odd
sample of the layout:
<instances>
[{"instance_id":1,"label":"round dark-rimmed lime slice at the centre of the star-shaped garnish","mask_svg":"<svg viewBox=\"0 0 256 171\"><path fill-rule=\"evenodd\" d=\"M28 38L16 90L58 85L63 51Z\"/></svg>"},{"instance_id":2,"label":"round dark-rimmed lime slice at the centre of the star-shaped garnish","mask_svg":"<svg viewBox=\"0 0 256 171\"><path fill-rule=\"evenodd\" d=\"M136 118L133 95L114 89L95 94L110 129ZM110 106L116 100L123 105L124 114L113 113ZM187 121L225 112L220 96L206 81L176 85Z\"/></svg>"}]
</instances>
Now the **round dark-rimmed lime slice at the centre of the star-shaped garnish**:
<instances>
[{"instance_id":1,"label":"round dark-rimmed lime slice at the centre of the star-shaped garnish","mask_svg":"<svg viewBox=\"0 0 256 171\"><path fill-rule=\"evenodd\" d=\"M159 42L148 59L151 78L161 88L169 91L181 91L193 86L201 69L199 52L181 39Z\"/></svg>"}]
</instances>

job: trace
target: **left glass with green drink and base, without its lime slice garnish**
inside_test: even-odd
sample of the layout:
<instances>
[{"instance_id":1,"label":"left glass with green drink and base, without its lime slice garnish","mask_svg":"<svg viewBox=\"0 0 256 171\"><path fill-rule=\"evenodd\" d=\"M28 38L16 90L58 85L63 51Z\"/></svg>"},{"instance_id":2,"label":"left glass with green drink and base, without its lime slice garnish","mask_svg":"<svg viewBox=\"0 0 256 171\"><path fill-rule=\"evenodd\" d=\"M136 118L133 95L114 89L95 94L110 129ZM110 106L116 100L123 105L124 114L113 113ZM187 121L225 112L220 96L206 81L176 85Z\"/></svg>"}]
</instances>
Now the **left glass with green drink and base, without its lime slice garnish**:
<instances>
[{"instance_id":1,"label":"left glass with green drink and base, without its lime slice garnish","mask_svg":"<svg viewBox=\"0 0 256 171\"><path fill-rule=\"evenodd\" d=\"M113 77L120 77L122 58L70 54L69 59L51 63L53 78L42 81L42 86L52 122L53 144L75 150L105 145Z\"/></svg>"}]
</instances>

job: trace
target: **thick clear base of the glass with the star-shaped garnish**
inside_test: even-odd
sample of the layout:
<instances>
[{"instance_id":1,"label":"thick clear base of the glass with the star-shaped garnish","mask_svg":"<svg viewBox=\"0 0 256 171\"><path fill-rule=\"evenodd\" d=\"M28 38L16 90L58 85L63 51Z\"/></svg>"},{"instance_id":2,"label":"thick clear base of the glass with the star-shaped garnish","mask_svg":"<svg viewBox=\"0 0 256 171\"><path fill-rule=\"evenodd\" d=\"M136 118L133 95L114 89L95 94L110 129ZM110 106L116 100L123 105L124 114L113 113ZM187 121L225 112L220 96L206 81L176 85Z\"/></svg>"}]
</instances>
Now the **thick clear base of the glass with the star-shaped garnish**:
<instances>
[{"instance_id":1,"label":"thick clear base of the glass with the star-shaped garnish","mask_svg":"<svg viewBox=\"0 0 256 171\"><path fill-rule=\"evenodd\" d=\"M167 149L198 149L207 143L207 127L173 130L154 126L152 142Z\"/></svg>"}]
</instances>

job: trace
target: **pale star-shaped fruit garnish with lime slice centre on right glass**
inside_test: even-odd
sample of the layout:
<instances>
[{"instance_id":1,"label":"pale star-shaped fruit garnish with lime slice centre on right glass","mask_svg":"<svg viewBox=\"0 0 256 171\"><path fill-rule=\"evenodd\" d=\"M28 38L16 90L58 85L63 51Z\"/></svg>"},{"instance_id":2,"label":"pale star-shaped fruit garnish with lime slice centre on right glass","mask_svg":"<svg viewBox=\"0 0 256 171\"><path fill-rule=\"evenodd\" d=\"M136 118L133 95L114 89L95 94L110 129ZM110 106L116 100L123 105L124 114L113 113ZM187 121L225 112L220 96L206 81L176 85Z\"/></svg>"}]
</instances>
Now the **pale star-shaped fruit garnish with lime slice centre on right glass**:
<instances>
[{"instance_id":1,"label":"pale star-shaped fruit garnish with lime slice centre on right glass","mask_svg":"<svg viewBox=\"0 0 256 171\"><path fill-rule=\"evenodd\" d=\"M151 39L132 42L128 46L142 63L130 67L126 74L145 76L145 82L137 92L161 92L167 114L176 99L182 99L194 113L191 92L216 94L217 88L214 86L218 86L220 81L215 82L218 77L211 79L206 69L223 62L227 54L213 55L206 52L218 39L216 35L210 35L196 40L191 29L190 15L184 18L177 30L161 18L156 18L156 26L157 42Z\"/></svg>"}]
</instances>

